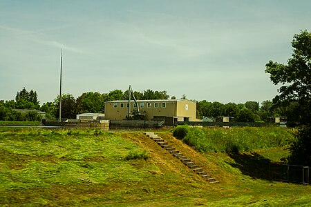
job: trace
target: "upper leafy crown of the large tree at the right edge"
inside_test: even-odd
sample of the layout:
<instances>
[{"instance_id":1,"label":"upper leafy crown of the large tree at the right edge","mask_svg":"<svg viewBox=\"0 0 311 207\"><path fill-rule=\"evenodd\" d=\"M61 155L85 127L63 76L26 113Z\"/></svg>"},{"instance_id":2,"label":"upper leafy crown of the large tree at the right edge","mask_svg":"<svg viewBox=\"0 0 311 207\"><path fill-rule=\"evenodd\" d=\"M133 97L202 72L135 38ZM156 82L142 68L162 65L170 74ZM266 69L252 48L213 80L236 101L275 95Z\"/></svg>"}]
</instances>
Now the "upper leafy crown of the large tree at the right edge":
<instances>
[{"instance_id":1,"label":"upper leafy crown of the large tree at the right edge","mask_svg":"<svg viewBox=\"0 0 311 207\"><path fill-rule=\"evenodd\" d=\"M308 124L311 118L311 33L307 30L295 34L292 41L293 54L287 64L269 61L265 72L275 85L281 84L274 103L288 105L299 103L299 123Z\"/></svg>"}]
</instances>

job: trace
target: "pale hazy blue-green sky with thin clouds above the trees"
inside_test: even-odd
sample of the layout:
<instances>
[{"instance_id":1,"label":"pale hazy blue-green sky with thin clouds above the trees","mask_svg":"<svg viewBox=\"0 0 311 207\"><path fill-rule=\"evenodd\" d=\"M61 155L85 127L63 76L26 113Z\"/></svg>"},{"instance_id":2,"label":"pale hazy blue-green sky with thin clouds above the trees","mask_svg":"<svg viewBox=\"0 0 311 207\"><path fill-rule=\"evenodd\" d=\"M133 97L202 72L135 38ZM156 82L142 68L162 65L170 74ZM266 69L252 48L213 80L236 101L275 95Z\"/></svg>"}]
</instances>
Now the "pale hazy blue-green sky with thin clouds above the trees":
<instances>
[{"instance_id":1,"label":"pale hazy blue-green sky with thin clouds above the trees","mask_svg":"<svg viewBox=\"0 0 311 207\"><path fill-rule=\"evenodd\" d=\"M166 90L220 103L272 100L265 64L311 31L310 0L0 0L0 100L35 90Z\"/></svg>"}]
</instances>

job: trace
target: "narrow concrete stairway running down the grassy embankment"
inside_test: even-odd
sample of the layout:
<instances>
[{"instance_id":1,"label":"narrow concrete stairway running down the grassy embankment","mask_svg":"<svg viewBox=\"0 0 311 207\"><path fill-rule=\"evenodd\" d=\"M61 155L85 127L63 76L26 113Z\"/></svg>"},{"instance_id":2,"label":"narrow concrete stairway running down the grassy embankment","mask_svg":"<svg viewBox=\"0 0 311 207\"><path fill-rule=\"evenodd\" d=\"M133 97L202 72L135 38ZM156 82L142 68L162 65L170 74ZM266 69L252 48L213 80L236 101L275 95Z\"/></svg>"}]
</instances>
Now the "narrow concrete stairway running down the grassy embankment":
<instances>
[{"instance_id":1,"label":"narrow concrete stairway running down the grassy embankment","mask_svg":"<svg viewBox=\"0 0 311 207\"><path fill-rule=\"evenodd\" d=\"M190 168L191 170L194 170L200 177L203 179L209 181L209 183L217 184L219 181L217 181L214 177L211 177L207 172L205 172L202 168L200 168L198 165L194 163L194 161L191 161L191 159L187 158L185 155L182 155L176 148L169 145L167 141L162 139L162 137L159 137L158 135L155 135L154 132L144 132L145 135L153 139L153 141L156 141L158 145L161 146L161 148L167 150L171 155L179 159L185 166Z\"/></svg>"}]
</instances>

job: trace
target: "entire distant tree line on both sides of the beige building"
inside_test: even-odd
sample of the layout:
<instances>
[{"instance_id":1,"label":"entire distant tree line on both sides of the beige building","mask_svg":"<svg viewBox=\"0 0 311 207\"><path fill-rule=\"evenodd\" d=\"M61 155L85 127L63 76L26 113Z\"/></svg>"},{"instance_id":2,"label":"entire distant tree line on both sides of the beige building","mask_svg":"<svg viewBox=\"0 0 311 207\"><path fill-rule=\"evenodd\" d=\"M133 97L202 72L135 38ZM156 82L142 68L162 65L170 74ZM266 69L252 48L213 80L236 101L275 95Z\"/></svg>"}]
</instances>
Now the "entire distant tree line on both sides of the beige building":
<instances>
[{"instance_id":1,"label":"entire distant tree line on both sides of the beige building","mask_svg":"<svg viewBox=\"0 0 311 207\"><path fill-rule=\"evenodd\" d=\"M143 92L133 92L136 99L169 99L167 91L144 90ZM75 119L77 114L81 113L104 113L106 101L127 100L129 91L112 90L109 93L100 92L84 92L79 97L73 95L62 95L62 117L66 119ZM172 96L171 99L176 99ZM180 99L186 99L182 95ZM234 121L238 122L258 122L267 121L267 117L288 116L292 120L295 104L290 107L276 107L270 100L263 101L261 106L258 101L246 101L245 103L220 103L218 101L209 102L206 100L196 101L196 114L198 119L209 117L215 119L220 116L234 117ZM17 92L15 100L0 101L0 120L10 121L37 121L38 117L34 115L21 114L14 109L37 109L46 112L48 119L58 119L59 117L59 96L53 102L46 102L40 106L37 92L26 90L23 88ZM31 112L33 113L33 112ZM35 118L33 118L35 117Z\"/></svg>"}]
</instances>

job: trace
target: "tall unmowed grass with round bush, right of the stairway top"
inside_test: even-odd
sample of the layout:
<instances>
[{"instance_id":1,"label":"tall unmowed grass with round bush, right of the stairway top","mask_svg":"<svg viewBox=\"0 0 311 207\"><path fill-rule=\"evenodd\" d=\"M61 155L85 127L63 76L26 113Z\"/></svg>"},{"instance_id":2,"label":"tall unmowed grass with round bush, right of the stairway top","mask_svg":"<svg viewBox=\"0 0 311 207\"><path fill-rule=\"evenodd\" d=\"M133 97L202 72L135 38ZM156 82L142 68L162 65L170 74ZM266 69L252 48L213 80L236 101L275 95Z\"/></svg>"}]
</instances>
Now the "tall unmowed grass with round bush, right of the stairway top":
<instances>
[{"instance_id":1,"label":"tall unmowed grass with round bush, right of the stairway top","mask_svg":"<svg viewBox=\"0 0 311 207\"><path fill-rule=\"evenodd\" d=\"M174 128L173 135L201 152L244 152L281 147L288 145L289 141L294 139L290 129L278 127L191 128L178 126Z\"/></svg>"}]
</instances>

